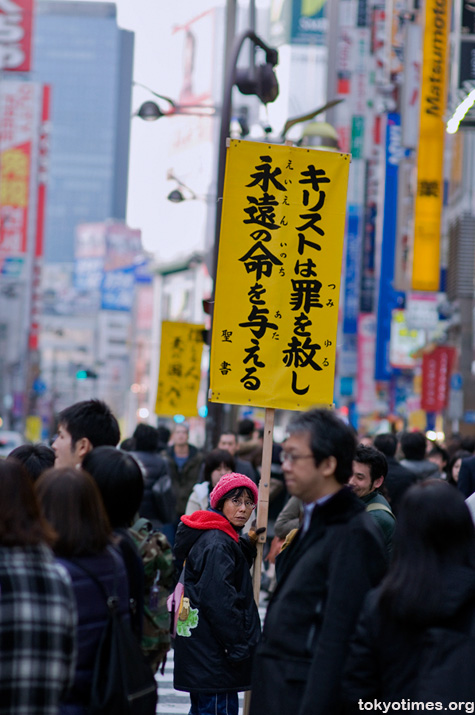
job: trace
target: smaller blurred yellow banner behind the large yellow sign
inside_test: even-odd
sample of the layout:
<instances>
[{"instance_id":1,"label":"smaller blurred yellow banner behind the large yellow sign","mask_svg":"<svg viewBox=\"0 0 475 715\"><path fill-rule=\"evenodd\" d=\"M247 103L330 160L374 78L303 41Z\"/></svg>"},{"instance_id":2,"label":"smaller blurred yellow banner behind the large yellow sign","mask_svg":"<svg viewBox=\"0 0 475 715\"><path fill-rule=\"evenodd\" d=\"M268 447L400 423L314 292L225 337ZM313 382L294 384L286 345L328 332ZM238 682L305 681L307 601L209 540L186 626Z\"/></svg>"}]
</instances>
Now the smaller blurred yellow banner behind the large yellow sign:
<instances>
[{"instance_id":1,"label":"smaller blurred yellow banner behind the large yellow sign","mask_svg":"<svg viewBox=\"0 0 475 715\"><path fill-rule=\"evenodd\" d=\"M162 322L157 415L198 414L204 325Z\"/></svg>"}]
</instances>

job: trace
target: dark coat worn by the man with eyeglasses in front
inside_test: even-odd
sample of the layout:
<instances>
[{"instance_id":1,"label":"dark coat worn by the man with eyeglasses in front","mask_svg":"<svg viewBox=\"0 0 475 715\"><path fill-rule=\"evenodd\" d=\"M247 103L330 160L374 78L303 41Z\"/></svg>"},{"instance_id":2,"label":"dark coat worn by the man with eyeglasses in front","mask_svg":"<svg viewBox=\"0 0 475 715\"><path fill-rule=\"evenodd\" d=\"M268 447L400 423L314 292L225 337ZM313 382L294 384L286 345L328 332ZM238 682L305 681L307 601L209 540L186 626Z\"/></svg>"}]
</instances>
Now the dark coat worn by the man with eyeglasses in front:
<instances>
[{"instance_id":1,"label":"dark coat worn by the man with eyeglasses in front","mask_svg":"<svg viewBox=\"0 0 475 715\"><path fill-rule=\"evenodd\" d=\"M348 642L386 569L380 529L344 487L317 505L276 559L278 582L254 660L251 715L337 715Z\"/></svg>"}]
</instances>

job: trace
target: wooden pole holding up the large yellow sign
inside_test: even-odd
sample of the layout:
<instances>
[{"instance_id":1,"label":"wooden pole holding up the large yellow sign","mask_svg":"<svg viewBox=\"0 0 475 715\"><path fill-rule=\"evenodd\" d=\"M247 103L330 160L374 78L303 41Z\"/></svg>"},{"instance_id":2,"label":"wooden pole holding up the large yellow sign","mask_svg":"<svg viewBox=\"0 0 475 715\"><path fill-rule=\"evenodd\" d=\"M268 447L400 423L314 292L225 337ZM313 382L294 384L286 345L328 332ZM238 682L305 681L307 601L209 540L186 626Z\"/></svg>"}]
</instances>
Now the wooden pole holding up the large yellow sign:
<instances>
[{"instance_id":1,"label":"wooden pole holding up the large yellow sign","mask_svg":"<svg viewBox=\"0 0 475 715\"><path fill-rule=\"evenodd\" d=\"M262 466L261 479L259 481L259 502L257 506L257 524L256 529L262 526L266 527L269 516L269 492L270 492L270 477L272 464L272 442L274 436L274 418L275 410L266 408L264 420L264 443L262 446ZM257 556L254 561L254 571L252 575L252 585L254 591L254 600L259 606L259 594L261 590L261 569L262 569L262 552L267 539L267 531L259 534L257 541ZM244 708L243 715L249 715L251 705L251 691L247 690L244 693Z\"/></svg>"}]
</instances>

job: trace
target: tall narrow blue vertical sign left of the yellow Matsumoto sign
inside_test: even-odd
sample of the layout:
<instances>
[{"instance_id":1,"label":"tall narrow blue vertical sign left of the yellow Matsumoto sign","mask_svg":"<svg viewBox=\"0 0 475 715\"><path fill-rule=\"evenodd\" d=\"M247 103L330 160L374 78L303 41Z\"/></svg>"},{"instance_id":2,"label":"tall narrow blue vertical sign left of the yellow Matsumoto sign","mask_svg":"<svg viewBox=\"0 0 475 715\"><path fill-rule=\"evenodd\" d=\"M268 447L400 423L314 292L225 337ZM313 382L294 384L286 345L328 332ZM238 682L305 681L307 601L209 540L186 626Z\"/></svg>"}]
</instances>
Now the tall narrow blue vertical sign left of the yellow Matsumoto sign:
<instances>
[{"instance_id":1,"label":"tall narrow blue vertical sign left of the yellow Matsumoto sign","mask_svg":"<svg viewBox=\"0 0 475 715\"><path fill-rule=\"evenodd\" d=\"M383 240L381 246L381 272L379 276L379 299L376 322L376 380L389 380L392 368L389 363L391 339L391 312L401 308L404 293L393 288L396 256L396 222L399 162L404 156L401 144L401 117L388 114L386 124L386 176L384 182Z\"/></svg>"}]
</instances>

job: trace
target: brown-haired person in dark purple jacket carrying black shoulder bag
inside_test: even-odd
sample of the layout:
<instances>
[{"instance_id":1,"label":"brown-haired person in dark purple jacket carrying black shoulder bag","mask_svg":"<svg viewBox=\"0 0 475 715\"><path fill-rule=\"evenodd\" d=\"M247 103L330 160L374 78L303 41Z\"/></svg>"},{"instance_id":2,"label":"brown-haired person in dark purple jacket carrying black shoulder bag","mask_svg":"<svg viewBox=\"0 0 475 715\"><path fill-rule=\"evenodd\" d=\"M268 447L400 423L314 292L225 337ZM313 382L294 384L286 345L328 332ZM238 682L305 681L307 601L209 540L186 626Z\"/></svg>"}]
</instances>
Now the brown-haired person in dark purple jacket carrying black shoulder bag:
<instances>
[{"instance_id":1,"label":"brown-haired person in dark purple jacket carrying black shoulder bag","mask_svg":"<svg viewBox=\"0 0 475 715\"><path fill-rule=\"evenodd\" d=\"M96 652L108 621L107 600L91 576L107 593L118 597L118 609L129 622L129 590L125 565L112 547L112 530L92 477L71 467L50 469L37 484L44 514L57 534L54 552L68 571L78 612L78 653L74 683L64 698L60 715L87 715Z\"/></svg>"}]
</instances>

